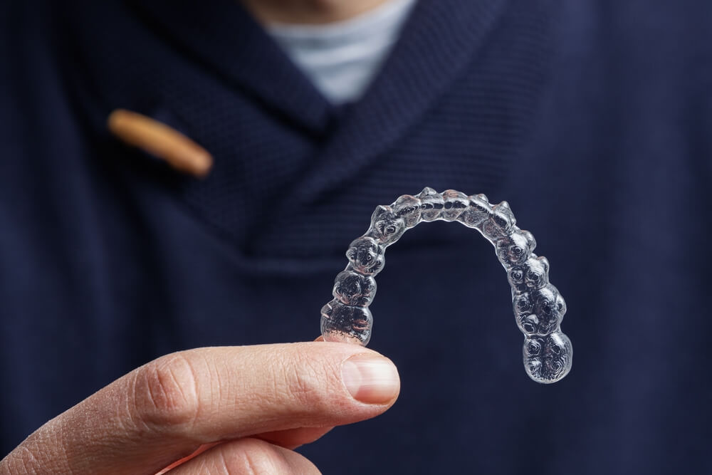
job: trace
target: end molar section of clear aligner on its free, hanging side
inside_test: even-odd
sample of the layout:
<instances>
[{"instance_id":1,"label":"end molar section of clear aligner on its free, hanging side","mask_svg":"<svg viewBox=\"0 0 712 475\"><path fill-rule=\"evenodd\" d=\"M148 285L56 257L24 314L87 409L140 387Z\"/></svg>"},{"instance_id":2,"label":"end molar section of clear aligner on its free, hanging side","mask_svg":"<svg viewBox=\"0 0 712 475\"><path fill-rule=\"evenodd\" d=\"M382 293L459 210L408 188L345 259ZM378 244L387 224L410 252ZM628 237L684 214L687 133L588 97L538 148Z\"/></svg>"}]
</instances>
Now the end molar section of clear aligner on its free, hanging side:
<instances>
[{"instance_id":1,"label":"end molar section of clear aligner on its free, hanging side","mask_svg":"<svg viewBox=\"0 0 712 475\"><path fill-rule=\"evenodd\" d=\"M560 331L524 340L524 367L536 382L548 384L561 380L571 370L572 359L571 341Z\"/></svg>"}]
</instances>

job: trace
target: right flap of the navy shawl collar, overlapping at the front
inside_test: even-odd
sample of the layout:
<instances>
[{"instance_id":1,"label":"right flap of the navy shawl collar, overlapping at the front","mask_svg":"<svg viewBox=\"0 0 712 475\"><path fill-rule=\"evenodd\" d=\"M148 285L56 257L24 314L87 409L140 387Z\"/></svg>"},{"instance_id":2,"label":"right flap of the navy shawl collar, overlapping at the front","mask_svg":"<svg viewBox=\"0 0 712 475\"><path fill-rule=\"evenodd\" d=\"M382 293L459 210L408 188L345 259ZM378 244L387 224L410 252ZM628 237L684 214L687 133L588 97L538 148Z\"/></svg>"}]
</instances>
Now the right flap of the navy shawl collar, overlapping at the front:
<instances>
[{"instance_id":1,"label":"right flap of the navy shawl collar, overlapping at the front","mask_svg":"<svg viewBox=\"0 0 712 475\"><path fill-rule=\"evenodd\" d=\"M389 60L362 100L345 114L315 167L295 184L290 203L318 199L403 137L461 75L506 3L419 0ZM375 122L371 117L389 120Z\"/></svg>"}]
</instances>

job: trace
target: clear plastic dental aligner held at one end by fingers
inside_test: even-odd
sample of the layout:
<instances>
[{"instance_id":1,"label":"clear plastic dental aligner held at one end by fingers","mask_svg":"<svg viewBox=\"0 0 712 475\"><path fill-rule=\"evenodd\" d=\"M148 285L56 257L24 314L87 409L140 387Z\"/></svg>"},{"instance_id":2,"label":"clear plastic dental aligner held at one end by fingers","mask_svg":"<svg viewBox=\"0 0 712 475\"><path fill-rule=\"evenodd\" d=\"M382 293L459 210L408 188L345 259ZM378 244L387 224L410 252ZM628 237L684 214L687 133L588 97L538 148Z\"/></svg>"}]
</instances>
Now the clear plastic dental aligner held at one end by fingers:
<instances>
[{"instance_id":1,"label":"clear plastic dental aligner held at one end by fingers","mask_svg":"<svg viewBox=\"0 0 712 475\"><path fill-rule=\"evenodd\" d=\"M373 324L368 306L376 295L374 276L385 266L386 248L419 222L436 220L458 221L493 244L512 287L527 374L544 383L565 377L572 361L571 341L560 328L566 303L549 283L549 261L533 253L534 236L516 226L507 202L491 204L483 194L468 197L452 189L438 193L426 187L376 208L366 234L346 251L349 264L336 276L333 300L321 309L324 340L367 345Z\"/></svg>"}]
</instances>

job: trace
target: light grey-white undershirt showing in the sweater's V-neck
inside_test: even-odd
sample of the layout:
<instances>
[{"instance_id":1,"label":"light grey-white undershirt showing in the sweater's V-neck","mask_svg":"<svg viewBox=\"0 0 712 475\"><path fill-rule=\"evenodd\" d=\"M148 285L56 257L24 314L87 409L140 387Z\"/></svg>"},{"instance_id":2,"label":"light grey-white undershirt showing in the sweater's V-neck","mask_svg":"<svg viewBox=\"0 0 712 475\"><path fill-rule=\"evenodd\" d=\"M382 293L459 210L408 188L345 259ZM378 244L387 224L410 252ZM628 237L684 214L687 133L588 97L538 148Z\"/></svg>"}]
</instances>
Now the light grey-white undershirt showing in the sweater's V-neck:
<instances>
[{"instance_id":1,"label":"light grey-white undershirt showing in the sweater's V-neck","mask_svg":"<svg viewBox=\"0 0 712 475\"><path fill-rule=\"evenodd\" d=\"M267 31L333 104L357 100L396 43L417 0L389 0L325 25L272 24Z\"/></svg>"}]
</instances>

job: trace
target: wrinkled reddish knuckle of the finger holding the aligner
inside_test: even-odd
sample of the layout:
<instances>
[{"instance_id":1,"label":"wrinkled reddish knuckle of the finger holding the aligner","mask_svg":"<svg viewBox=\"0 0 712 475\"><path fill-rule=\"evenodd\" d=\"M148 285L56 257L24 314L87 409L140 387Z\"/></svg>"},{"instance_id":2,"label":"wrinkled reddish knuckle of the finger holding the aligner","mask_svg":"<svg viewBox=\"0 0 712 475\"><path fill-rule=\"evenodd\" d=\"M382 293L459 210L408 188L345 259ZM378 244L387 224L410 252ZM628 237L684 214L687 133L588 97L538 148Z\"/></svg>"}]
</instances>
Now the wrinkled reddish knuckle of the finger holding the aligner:
<instances>
[{"instance_id":1,"label":"wrinkled reddish knuckle of the finger holding the aligner","mask_svg":"<svg viewBox=\"0 0 712 475\"><path fill-rule=\"evenodd\" d=\"M190 426L200 411L196 373L182 353L139 368L134 382L134 415L152 429Z\"/></svg>"}]
</instances>

